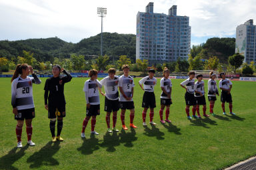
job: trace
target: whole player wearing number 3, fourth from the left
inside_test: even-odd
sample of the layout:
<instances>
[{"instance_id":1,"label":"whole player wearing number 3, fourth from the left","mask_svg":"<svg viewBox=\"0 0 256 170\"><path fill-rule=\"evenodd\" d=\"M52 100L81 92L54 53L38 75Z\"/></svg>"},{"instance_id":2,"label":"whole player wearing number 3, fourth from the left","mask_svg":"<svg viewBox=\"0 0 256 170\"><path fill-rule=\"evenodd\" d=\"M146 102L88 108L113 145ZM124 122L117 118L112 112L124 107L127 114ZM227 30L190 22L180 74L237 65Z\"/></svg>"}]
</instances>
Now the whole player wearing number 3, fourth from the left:
<instances>
[{"instance_id":1,"label":"whole player wearing number 3, fourth from the left","mask_svg":"<svg viewBox=\"0 0 256 170\"><path fill-rule=\"evenodd\" d=\"M119 93L118 93L118 83L119 77L115 75L115 69L110 68L108 71L109 76L105 77L99 83L104 85L105 93L101 92L101 95L105 96L105 111L107 111L106 122L107 122L107 131L109 133L113 131L118 132L115 128L115 124L117 123L117 111L119 111ZM113 129L110 129L110 114L113 111Z\"/></svg>"}]
</instances>

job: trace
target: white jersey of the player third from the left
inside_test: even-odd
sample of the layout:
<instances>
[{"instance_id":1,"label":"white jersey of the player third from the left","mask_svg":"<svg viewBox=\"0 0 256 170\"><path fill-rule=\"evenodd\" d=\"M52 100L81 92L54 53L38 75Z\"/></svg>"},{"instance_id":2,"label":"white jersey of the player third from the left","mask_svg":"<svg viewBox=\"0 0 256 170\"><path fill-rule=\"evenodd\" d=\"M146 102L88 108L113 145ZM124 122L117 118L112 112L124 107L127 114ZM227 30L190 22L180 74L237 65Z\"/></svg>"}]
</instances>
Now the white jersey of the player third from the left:
<instances>
[{"instance_id":1,"label":"white jersey of the player third from the left","mask_svg":"<svg viewBox=\"0 0 256 170\"><path fill-rule=\"evenodd\" d=\"M83 87L83 91L88 94L88 101L91 105L99 105L99 90L98 87L101 88L101 83L96 79L92 81L91 79L85 81L85 86Z\"/></svg>"}]
</instances>

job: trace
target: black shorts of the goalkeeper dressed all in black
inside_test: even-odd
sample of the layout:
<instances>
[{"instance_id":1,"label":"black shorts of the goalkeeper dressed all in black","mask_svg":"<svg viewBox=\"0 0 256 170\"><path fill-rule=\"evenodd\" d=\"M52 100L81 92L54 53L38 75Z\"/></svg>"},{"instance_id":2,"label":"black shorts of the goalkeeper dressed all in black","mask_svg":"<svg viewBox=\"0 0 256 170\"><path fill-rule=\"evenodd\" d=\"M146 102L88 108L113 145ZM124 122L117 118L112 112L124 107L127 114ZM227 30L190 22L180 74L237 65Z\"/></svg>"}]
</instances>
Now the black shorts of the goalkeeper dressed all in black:
<instances>
[{"instance_id":1,"label":"black shorts of the goalkeeper dressed all in black","mask_svg":"<svg viewBox=\"0 0 256 170\"><path fill-rule=\"evenodd\" d=\"M48 105L48 118L66 117L66 105Z\"/></svg>"}]
</instances>

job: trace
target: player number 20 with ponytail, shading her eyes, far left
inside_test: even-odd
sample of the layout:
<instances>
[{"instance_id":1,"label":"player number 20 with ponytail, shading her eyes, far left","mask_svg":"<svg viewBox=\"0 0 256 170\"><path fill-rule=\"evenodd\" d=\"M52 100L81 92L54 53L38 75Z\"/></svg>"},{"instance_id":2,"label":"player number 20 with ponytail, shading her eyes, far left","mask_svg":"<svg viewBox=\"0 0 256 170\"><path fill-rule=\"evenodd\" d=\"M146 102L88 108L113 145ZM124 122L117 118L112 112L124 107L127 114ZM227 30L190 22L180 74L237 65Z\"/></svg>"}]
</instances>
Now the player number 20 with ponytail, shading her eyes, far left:
<instances>
[{"instance_id":1,"label":"player number 20 with ponytail, shading her eyes, far left","mask_svg":"<svg viewBox=\"0 0 256 170\"><path fill-rule=\"evenodd\" d=\"M29 73L33 77L28 77ZM33 72L33 68L27 64L18 64L11 78L11 105L13 106L15 119L17 120L16 136L18 148L22 147L21 133L24 119L27 131L27 144L29 146L35 146L35 143L31 141L33 129L32 119L35 117L32 83L41 83L41 80Z\"/></svg>"}]
</instances>

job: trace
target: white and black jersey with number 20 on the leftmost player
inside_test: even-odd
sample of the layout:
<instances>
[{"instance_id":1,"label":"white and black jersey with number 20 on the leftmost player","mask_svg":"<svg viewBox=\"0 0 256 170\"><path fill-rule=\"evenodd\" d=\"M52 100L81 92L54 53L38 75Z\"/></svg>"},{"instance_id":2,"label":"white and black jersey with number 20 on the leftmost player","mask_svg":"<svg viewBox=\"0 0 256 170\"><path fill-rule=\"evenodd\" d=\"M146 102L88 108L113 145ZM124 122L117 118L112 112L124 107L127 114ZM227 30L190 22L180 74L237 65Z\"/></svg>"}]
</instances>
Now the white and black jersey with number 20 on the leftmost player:
<instances>
[{"instance_id":1,"label":"white and black jersey with number 20 on the leftmost player","mask_svg":"<svg viewBox=\"0 0 256 170\"><path fill-rule=\"evenodd\" d=\"M20 76L11 83L11 105L18 110L34 108L32 83L40 84L41 81L33 74L33 77L22 79Z\"/></svg>"}]
</instances>

